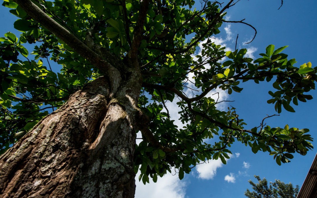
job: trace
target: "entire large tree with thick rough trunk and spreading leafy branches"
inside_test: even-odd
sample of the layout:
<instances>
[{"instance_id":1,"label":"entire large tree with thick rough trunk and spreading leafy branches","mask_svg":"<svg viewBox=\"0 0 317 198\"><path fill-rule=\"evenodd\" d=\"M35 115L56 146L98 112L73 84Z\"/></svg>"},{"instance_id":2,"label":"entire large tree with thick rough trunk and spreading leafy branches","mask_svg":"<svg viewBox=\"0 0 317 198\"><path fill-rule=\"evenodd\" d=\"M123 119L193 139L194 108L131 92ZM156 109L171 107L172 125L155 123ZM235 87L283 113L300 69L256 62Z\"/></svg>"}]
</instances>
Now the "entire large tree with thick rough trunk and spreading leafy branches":
<instances>
[{"instance_id":1,"label":"entire large tree with thick rough trunk and spreading leafy branches","mask_svg":"<svg viewBox=\"0 0 317 198\"><path fill-rule=\"evenodd\" d=\"M225 52L212 42L224 22L253 28L223 18L233 0L203 1L200 10L191 0L3 5L19 17L14 26L22 32L0 38L3 196L133 197L137 171L144 183L171 169L182 179L202 161L226 163L235 141L254 153L268 151L279 165L312 148L308 129L273 128L266 118L245 129L235 108L221 111L217 104L224 101L208 95L217 87L241 92L241 82L273 80L268 103L278 113L312 99L306 93L315 87L316 68L294 67L295 59L281 53L287 46L269 45L253 60L244 57L246 49ZM202 54L195 55L202 41ZM27 43L35 43L32 58ZM173 124L166 101L182 109L183 128ZM204 143L214 136L215 144Z\"/></svg>"}]
</instances>

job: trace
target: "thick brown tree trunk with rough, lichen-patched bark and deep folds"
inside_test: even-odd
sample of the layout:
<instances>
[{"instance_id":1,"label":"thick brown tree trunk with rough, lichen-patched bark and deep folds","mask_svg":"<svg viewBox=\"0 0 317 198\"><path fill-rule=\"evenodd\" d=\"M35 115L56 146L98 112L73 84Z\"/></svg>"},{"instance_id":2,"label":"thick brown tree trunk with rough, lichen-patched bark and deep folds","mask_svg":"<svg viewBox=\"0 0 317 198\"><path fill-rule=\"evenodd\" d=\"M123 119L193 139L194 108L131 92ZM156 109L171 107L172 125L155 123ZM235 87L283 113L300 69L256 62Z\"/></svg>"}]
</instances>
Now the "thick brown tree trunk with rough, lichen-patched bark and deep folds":
<instances>
[{"instance_id":1,"label":"thick brown tree trunk with rough, lichen-patched bark and deep folds","mask_svg":"<svg viewBox=\"0 0 317 198\"><path fill-rule=\"evenodd\" d=\"M140 83L98 78L0 156L0 197L134 197Z\"/></svg>"}]
</instances>

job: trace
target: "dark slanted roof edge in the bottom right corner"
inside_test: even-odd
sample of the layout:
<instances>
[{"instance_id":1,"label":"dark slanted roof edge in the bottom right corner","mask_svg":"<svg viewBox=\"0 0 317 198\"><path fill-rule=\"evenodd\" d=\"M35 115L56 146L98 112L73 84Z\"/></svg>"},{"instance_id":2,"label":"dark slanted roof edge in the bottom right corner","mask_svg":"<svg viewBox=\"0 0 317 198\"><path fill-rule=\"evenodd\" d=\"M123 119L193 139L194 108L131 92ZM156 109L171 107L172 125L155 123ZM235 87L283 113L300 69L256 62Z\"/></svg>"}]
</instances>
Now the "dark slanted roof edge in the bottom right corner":
<instances>
[{"instance_id":1,"label":"dark slanted roof edge in the bottom right corner","mask_svg":"<svg viewBox=\"0 0 317 198\"><path fill-rule=\"evenodd\" d=\"M297 198L317 197L317 154L310 167L306 179L297 195Z\"/></svg>"}]
</instances>

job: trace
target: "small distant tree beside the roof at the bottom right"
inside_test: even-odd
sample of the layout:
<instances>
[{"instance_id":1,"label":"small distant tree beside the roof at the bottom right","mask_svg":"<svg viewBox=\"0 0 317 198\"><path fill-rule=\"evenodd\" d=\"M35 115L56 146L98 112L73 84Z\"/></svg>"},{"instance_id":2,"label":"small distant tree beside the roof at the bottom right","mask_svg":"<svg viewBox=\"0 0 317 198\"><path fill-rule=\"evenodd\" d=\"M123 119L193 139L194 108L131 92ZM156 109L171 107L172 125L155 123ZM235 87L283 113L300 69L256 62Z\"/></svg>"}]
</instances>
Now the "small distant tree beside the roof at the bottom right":
<instances>
[{"instance_id":1,"label":"small distant tree beside the roof at the bottom right","mask_svg":"<svg viewBox=\"0 0 317 198\"><path fill-rule=\"evenodd\" d=\"M292 183L285 184L284 182L275 179L275 182L270 182L270 186L268 186L268 181L265 178L261 180L260 176L254 177L257 179L259 183L256 184L252 182L252 180L248 181L254 190L253 192L250 192L249 189L245 191L244 195L249 198L296 198L299 192L299 185L296 185L296 188L294 188Z\"/></svg>"}]
</instances>

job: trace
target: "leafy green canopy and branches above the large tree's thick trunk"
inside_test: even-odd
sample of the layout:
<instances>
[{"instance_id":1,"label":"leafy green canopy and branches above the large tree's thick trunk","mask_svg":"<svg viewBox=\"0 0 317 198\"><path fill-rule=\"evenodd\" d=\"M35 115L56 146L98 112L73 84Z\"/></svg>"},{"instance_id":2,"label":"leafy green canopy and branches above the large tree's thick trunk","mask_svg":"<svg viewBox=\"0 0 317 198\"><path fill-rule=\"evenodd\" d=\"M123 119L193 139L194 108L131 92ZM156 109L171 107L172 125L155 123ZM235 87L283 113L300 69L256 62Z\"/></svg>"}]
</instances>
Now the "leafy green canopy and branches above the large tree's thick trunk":
<instances>
[{"instance_id":1,"label":"leafy green canopy and branches above the large tree's thick trunk","mask_svg":"<svg viewBox=\"0 0 317 198\"><path fill-rule=\"evenodd\" d=\"M307 92L315 88L316 67L310 62L296 67L282 53L287 46L268 45L253 60L245 57L245 48L226 51L210 39L223 23L253 28L225 20L233 0L199 6L192 0L4 0L3 5L19 17L14 27L21 35L0 38L1 153L87 83L102 75L115 81L113 70L124 81L135 65L142 76L137 125L143 139L134 165L144 183L172 169L182 179L210 159L225 164L236 141L254 153L268 152L279 165L313 148L308 129L265 125L273 115L247 127L234 107L219 110L224 101L210 97L216 88L240 93L243 82L273 81L267 102L277 113L282 107L294 112L292 105L312 99ZM174 125L166 101L181 108L184 127ZM205 143L210 138L215 144Z\"/></svg>"}]
</instances>

